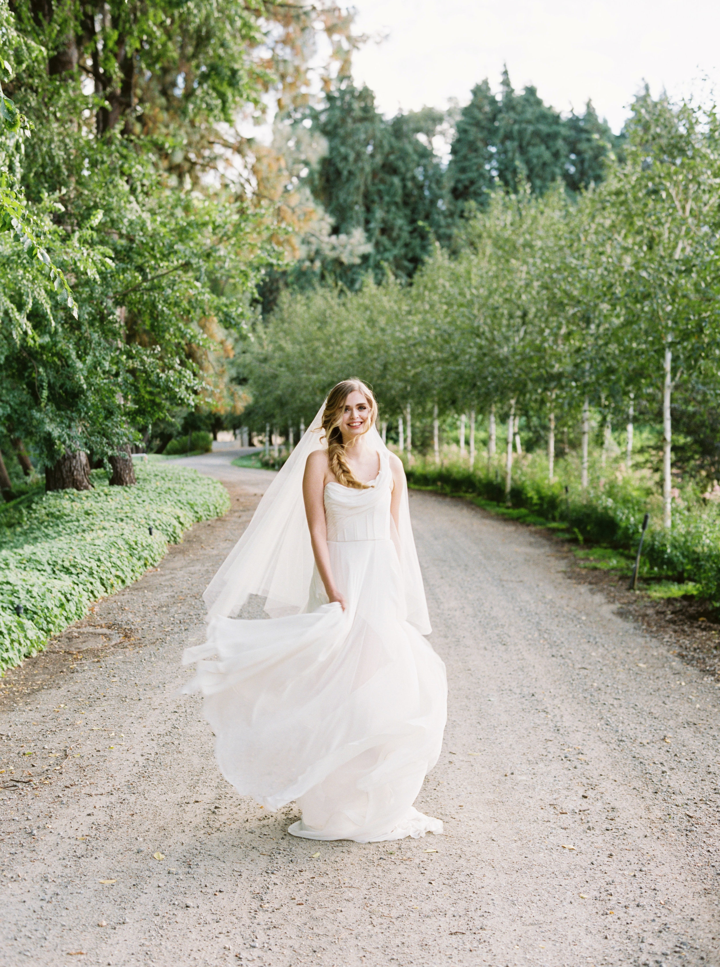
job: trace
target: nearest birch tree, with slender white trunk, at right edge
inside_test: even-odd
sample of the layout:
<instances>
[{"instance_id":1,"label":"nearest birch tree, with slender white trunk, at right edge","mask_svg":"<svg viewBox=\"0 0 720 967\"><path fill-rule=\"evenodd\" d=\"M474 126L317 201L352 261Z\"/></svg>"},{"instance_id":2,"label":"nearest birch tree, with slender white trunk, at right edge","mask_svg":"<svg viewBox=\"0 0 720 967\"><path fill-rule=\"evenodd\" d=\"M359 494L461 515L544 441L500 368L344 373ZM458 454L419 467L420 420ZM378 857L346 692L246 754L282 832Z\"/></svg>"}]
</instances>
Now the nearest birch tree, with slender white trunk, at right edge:
<instances>
[{"instance_id":1,"label":"nearest birch tree, with slender white trunk, at right edge","mask_svg":"<svg viewBox=\"0 0 720 967\"><path fill-rule=\"evenodd\" d=\"M663 520L672 525L672 394L718 354L711 291L720 229L720 130L713 110L649 94L633 106L626 167L607 187L628 307L621 345L644 356L638 388L662 399ZM659 392L658 392L659 391Z\"/></svg>"}]
</instances>

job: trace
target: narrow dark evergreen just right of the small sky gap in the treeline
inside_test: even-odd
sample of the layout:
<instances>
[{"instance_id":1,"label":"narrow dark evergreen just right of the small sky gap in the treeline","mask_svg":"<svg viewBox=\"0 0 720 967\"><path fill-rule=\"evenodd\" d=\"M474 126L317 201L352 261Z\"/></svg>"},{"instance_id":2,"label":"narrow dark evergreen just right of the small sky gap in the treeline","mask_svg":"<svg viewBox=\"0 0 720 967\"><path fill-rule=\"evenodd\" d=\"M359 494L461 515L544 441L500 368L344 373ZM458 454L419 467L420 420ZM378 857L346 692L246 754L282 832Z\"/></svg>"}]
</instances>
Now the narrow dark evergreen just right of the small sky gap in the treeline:
<instances>
[{"instance_id":1,"label":"narrow dark evergreen just right of the small sky gap in the treeline","mask_svg":"<svg viewBox=\"0 0 720 967\"><path fill-rule=\"evenodd\" d=\"M488 79L472 89L470 103L458 121L452 143L447 180L454 209L461 212L468 201L479 208L488 205L495 185L495 145L499 107Z\"/></svg>"}]
</instances>

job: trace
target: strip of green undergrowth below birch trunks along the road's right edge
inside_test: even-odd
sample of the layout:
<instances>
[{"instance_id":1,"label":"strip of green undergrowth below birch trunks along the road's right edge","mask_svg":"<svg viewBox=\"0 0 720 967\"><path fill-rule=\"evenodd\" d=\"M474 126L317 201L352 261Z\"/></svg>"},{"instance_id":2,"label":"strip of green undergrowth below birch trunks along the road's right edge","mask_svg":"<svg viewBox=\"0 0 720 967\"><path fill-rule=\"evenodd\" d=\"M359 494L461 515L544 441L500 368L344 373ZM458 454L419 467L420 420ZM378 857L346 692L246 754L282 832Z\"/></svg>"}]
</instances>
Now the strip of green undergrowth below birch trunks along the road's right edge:
<instances>
[{"instance_id":1,"label":"strip of green undergrowth below birch trunks along the road's right edge","mask_svg":"<svg viewBox=\"0 0 720 967\"><path fill-rule=\"evenodd\" d=\"M535 456L535 454L533 454ZM457 464L437 467L418 461L406 469L409 486L439 493L476 496L478 503L495 504L497 510L527 523L560 521L582 541L605 544L634 554L638 548L643 517L650 525L643 545L644 575L694 582L702 596L720 606L720 511L714 503L698 500L678 503L673 526L662 525L661 503L651 480L643 472L616 474L583 492L574 475L548 481L542 458L518 460L513 469L513 510L506 511L504 480L485 468L471 473ZM567 484L565 483L567 480ZM567 487L567 489L566 489Z\"/></svg>"}]
</instances>

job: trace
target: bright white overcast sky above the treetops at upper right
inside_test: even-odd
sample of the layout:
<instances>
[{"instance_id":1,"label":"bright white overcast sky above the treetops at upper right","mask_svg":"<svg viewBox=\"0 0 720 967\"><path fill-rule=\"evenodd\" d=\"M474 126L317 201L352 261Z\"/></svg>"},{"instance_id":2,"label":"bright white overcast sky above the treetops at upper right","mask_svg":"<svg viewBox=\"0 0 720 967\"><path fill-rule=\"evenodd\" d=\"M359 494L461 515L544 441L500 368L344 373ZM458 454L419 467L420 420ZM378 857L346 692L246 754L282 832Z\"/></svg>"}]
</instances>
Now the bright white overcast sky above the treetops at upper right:
<instances>
[{"instance_id":1,"label":"bright white overcast sky above the treetops at upper right","mask_svg":"<svg viewBox=\"0 0 720 967\"><path fill-rule=\"evenodd\" d=\"M503 63L560 111L588 98L615 132L644 80L654 94L708 93L720 80L720 0L354 0L357 29L386 34L355 55L356 82L385 114L469 100Z\"/></svg>"}]
</instances>

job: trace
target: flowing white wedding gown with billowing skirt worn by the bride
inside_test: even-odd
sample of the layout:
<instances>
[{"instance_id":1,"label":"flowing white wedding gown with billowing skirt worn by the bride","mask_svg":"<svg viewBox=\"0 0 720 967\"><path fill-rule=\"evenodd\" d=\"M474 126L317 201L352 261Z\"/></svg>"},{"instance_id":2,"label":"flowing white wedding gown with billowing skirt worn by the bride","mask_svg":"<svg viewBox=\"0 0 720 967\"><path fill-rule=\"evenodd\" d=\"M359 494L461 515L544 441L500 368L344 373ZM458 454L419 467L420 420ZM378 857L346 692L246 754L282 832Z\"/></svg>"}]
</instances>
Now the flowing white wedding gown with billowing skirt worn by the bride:
<instances>
[{"instance_id":1,"label":"flowing white wedding gown with billowing skirt worn by the bride","mask_svg":"<svg viewBox=\"0 0 720 967\"><path fill-rule=\"evenodd\" d=\"M315 570L304 613L213 618L207 642L184 658L197 661L183 690L205 696L223 775L271 809L297 801L292 835L375 842L442 832L412 804L440 751L445 667L406 621L391 484L383 449L372 487L325 487L345 611Z\"/></svg>"}]
</instances>

